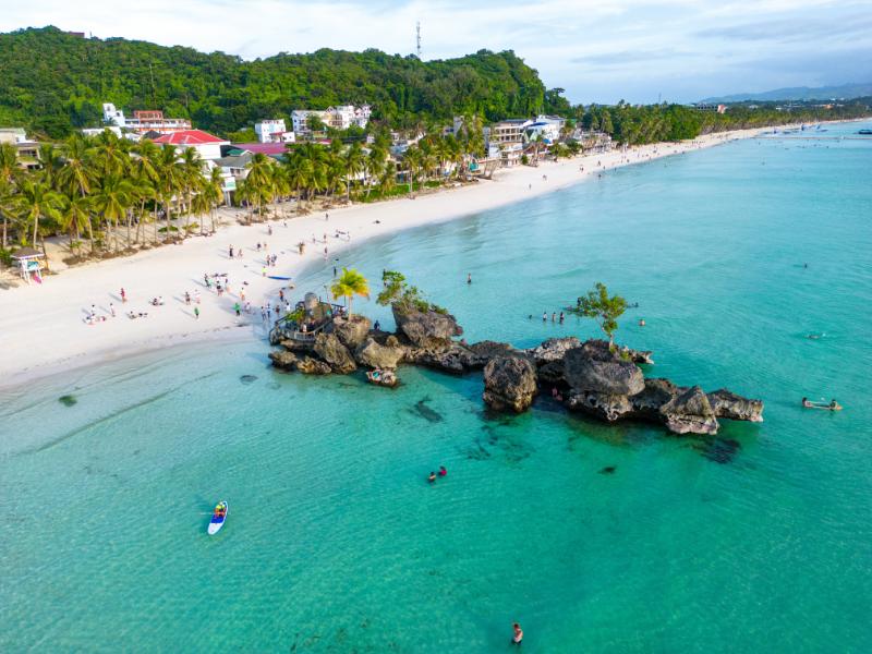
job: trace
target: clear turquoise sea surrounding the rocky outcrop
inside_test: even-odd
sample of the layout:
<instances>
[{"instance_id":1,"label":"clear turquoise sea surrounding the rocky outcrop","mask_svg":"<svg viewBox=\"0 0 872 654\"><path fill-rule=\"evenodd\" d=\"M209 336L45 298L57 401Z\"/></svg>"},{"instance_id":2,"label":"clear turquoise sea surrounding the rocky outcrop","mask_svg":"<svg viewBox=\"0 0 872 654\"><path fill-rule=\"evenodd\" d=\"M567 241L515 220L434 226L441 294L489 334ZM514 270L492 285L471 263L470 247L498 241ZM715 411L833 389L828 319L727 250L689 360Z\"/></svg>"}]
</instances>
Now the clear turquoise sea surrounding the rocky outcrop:
<instances>
[{"instance_id":1,"label":"clear turquoise sea surrounding the rocky outcrop","mask_svg":"<svg viewBox=\"0 0 872 654\"><path fill-rule=\"evenodd\" d=\"M524 652L872 652L871 170L872 141L742 141L342 255L521 347L594 336L541 315L602 280L649 374L765 401L716 439L280 374L253 339L4 391L0 651L512 652L517 620Z\"/></svg>"}]
</instances>

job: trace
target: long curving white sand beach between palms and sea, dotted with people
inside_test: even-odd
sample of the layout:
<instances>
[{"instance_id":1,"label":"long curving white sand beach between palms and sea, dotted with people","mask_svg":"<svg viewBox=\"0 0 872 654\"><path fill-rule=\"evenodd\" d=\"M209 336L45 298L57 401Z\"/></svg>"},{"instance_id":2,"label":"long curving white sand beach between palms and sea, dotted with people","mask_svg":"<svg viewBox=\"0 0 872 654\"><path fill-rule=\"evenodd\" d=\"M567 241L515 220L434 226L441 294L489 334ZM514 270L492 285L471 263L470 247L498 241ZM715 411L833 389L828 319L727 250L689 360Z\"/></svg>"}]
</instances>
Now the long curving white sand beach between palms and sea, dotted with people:
<instances>
[{"instance_id":1,"label":"long curving white sand beach between palms and sea, dotted with people","mask_svg":"<svg viewBox=\"0 0 872 654\"><path fill-rule=\"evenodd\" d=\"M693 142L589 155L543 162L536 168L518 167L498 171L489 181L415 199L330 209L329 221L325 221L323 213L315 213L289 218L287 226L282 220L253 226L228 225L213 237L191 238L179 245L64 269L46 277L43 284L20 284L0 291L0 334L4 346L0 387L19 385L61 368L194 340L230 336L264 338L266 327L259 307L265 302L276 302L278 290L287 282L263 276L265 253L257 252L257 242L267 243L268 253L278 255L277 266L268 268L267 275L294 277L305 263L324 257L325 244L313 244L313 235L320 241L327 233L329 256L334 258L349 245L360 244L373 235L493 209L566 187L604 169L710 147L762 131L725 132ZM228 211L227 216L238 213ZM270 225L271 237L267 233ZM349 238L335 238L337 230L347 232ZM296 249L300 241L307 244L302 256ZM243 250L242 258L228 256L231 245L237 252ZM203 286L205 272L227 272L231 292L219 298L214 288L207 290ZM233 305L242 303L240 290L245 281L245 300L251 302L252 313L237 317ZM123 304L122 287L128 296ZM201 303L185 304L186 291L192 295L198 291ZM298 300L304 291L291 292L291 301ZM150 306L148 301L156 296L162 296L166 304ZM116 317L109 315L110 303ZM85 318L92 306L98 316L107 316L107 319L87 324ZM194 317L195 306L201 312L198 319ZM131 319L125 315L129 311L148 315Z\"/></svg>"}]
</instances>

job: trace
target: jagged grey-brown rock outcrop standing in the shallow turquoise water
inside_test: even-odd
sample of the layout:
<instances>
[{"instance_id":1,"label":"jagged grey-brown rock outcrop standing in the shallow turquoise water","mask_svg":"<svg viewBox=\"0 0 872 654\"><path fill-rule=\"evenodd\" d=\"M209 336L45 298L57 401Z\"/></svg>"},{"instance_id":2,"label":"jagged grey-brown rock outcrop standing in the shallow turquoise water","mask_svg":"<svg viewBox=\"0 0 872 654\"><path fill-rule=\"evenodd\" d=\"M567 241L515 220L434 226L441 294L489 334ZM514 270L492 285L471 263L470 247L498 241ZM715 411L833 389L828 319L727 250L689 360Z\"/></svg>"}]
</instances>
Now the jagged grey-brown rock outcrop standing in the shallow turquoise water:
<instances>
[{"instance_id":1,"label":"jagged grey-brown rock outcrop standing in the shallow turquoise water","mask_svg":"<svg viewBox=\"0 0 872 654\"><path fill-rule=\"evenodd\" d=\"M359 365L392 370L402 363L452 374L484 370L482 397L495 410L525 411L540 390L553 391L571 411L608 422L658 422L674 434L715 434L718 417L763 420L761 400L645 379L639 364L653 363L649 351L574 337L552 338L528 350L497 341L468 344L453 340L462 329L449 314L399 312L396 305L393 314L396 334L372 330L362 316L338 318L328 334L314 341L282 341L269 358L278 368L313 375L348 374Z\"/></svg>"}]
</instances>

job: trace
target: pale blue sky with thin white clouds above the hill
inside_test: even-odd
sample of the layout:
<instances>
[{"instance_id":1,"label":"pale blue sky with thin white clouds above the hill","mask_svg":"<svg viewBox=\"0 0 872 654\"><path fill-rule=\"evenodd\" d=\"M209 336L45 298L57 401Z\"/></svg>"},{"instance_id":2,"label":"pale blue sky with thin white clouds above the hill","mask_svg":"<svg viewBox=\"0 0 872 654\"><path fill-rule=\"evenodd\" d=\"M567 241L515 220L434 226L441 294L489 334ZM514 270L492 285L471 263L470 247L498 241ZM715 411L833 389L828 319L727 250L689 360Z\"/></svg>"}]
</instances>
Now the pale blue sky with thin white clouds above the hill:
<instances>
[{"instance_id":1,"label":"pale blue sky with thin white clouds above the hill","mask_svg":"<svg viewBox=\"0 0 872 654\"><path fill-rule=\"evenodd\" d=\"M0 0L56 25L244 59L318 48L445 59L514 50L573 102L689 102L872 81L872 0Z\"/></svg>"}]
</instances>

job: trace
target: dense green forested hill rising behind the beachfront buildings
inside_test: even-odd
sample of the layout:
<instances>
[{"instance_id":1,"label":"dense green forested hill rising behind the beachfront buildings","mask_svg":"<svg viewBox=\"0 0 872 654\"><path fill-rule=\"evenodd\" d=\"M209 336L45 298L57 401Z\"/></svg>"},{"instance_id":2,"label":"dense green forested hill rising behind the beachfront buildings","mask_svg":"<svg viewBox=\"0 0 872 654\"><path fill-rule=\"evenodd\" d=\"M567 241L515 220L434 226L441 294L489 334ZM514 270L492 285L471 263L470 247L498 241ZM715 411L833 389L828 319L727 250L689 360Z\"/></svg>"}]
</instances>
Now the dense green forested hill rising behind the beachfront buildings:
<instances>
[{"instance_id":1,"label":"dense green forested hill rising behind the beachfront buildings","mask_svg":"<svg viewBox=\"0 0 872 654\"><path fill-rule=\"evenodd\" d=\"M243 61L239 57L146 41L81 38L56 27L0 34L0 125L60 137L96 126L101 104L162 109L227 134L300 108L373 106L393 125L458 113L488 120L568 110L546 94L535 70L513 52L482 50L420 61L378 50L318 50Z\"/></svg>"}]
</instances>

